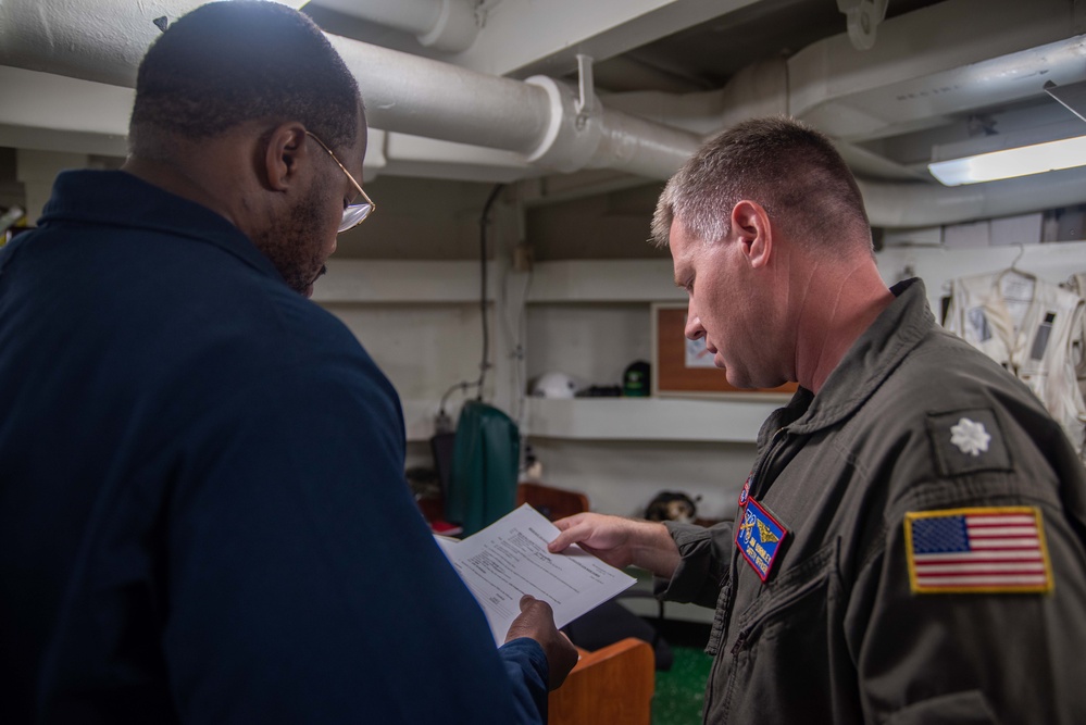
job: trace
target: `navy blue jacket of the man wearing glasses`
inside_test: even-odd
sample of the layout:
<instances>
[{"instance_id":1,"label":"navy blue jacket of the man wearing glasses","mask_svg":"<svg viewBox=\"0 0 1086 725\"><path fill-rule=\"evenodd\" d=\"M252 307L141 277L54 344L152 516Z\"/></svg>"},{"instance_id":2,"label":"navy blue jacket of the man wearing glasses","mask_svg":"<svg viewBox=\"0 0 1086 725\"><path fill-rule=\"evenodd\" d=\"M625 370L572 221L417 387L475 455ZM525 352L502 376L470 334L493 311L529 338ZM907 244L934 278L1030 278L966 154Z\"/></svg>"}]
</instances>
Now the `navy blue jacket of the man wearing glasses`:
<instances>
[{"instance_id":1,"label":"navy blue jacket of the man wearing glasses","mask_svg":"<svg viewBox=\"0 0 1086 725\"><path fill-rule=\"evenodd\" d=\"M62 174L40 225L0 251L0 722L545 718L340 322L124 172Z\"/></svg>"}]
</instances>

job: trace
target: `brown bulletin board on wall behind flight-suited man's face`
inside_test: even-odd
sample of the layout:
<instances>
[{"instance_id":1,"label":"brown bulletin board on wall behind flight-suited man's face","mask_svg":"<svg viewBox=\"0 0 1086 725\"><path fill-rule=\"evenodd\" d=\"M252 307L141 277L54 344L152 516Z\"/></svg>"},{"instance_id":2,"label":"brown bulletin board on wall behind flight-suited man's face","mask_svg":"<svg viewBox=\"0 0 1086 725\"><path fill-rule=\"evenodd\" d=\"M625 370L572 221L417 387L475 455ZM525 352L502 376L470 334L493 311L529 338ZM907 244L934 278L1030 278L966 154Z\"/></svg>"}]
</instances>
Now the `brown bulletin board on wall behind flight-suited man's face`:
<instances>
[{"instance_id":1,"label":"brown bulletin board on wall behind flight-suited man's face","mask_svg":"<svg viewBox=\"0 0 1086 725\"><path fill-rule=\"evenodd\" d=\"M776 388L742 389L728 384L724 370L713 365L704 339L686 338L687 305L652 305L652 392L659 396L767 396L787 400L795 383Z\"/></svg>"}]
</instances>

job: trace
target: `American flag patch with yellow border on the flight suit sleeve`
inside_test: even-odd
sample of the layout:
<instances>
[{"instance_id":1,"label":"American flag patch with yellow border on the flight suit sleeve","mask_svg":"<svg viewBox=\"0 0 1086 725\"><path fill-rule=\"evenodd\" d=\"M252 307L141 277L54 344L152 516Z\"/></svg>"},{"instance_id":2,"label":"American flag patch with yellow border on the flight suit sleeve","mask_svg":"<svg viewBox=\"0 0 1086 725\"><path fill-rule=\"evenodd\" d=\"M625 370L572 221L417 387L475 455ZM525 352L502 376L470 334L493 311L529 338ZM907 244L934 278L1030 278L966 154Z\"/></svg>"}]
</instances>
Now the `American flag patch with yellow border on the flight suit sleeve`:
<instances>
[{"instance_id":1,"label":"American flag patch with yellow border on the flight suit sleeve","mask_svg":"<svg viewBox=\"0 0 1086 725\"><path fill-rule=\"evenodd\" d=\"M1052 589L1040 511L1034 507L910 512L904 533L914 592Z\"/></svg>"}]
</instances>

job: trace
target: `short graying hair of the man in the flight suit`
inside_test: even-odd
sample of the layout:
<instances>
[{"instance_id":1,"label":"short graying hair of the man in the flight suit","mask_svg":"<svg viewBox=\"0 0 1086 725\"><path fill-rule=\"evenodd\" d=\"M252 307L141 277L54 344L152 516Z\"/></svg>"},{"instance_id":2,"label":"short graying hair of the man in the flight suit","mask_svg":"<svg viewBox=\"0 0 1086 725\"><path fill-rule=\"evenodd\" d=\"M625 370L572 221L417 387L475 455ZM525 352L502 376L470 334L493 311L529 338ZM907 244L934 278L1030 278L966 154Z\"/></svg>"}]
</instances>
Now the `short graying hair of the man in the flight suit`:
<instances>
[{"instance_id":1,"label":"short graying hair of the man in the flight suit","mask_svg":"<svg viewBox=\"0 0 1086 725\"><path fill-rule=\"evenodd\" d=\"M840 249L862 238L871 249L863 197L845 160L828 137L784 116L745 121L701 147L660 195L652 241L666 247L677 217L688 233L715 243L731 232L732 210L744 199L807 243Z\"/></svg>"}]
</instances>

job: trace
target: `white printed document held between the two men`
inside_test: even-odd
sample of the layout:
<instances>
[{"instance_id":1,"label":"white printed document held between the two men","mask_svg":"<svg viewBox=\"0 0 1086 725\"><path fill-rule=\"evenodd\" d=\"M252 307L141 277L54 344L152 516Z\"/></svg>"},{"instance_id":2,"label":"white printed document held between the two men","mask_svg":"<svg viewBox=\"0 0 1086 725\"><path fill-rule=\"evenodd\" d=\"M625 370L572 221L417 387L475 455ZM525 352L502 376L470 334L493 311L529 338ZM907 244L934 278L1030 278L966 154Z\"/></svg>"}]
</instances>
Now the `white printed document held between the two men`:
<instances>
[{"instance_id":1,"label":"white printed document held between the two men","mask_svg":"<svg viewBox=\"0 0 1086 725\"><path fill-rule=\"evenodd\" d=\"M554 610L563 627L602 604L636 579L576 545L547 551L558 528L527 503L459 542L438 539L445 555L478 600L498 645L532 595Z\"/></svg>"}]
</instances>

